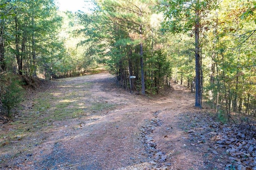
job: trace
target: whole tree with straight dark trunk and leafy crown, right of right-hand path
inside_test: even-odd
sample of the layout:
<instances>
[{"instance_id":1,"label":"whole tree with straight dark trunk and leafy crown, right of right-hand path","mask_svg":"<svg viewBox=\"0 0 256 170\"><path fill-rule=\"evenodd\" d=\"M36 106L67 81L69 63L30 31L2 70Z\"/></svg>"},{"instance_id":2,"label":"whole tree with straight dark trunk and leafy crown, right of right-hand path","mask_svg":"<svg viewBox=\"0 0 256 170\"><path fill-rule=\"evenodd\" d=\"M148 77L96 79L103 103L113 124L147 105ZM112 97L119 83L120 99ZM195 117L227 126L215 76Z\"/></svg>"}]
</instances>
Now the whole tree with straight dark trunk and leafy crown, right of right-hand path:
<instances>
[{"instance_id":1,"label":"whole tree with straight dark trunk and leafy crown, right of right-hand path","mask_svg":"<svg viewBox=\"0 0 256 170\"><path fill-rule=\"evenodd\" d=\"M196 102L195 107L202 108L202 56L200 43L200 33L202 32L202 20L206 15L216 8L216 0L176 0L164 1L162 10L164 11L166 30L171 32L189 32L192 30L195 36L195 72L196 72Z\"/></svg>"}]
</instances>

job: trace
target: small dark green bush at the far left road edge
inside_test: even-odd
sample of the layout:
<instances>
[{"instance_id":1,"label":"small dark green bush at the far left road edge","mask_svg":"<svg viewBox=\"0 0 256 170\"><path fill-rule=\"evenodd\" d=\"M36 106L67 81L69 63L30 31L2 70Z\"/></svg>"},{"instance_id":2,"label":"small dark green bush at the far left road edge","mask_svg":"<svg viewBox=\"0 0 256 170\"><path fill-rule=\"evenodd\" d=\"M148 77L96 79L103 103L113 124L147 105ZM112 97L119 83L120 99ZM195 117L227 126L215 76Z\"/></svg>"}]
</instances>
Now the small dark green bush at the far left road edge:
<instances>
[{"instance_id":1,"label":"small dark green bush at the far left road edge","mask_svg":"<svg viewBox=\"0 0 256 170\"><path fill-rule=\"evenodd\" d=\"M24 89L22 81L17 75L5 73L0 76L0 104L2 113L8 117L12 116L12 109L22 101Z\"/></svg>"}]
</instances>

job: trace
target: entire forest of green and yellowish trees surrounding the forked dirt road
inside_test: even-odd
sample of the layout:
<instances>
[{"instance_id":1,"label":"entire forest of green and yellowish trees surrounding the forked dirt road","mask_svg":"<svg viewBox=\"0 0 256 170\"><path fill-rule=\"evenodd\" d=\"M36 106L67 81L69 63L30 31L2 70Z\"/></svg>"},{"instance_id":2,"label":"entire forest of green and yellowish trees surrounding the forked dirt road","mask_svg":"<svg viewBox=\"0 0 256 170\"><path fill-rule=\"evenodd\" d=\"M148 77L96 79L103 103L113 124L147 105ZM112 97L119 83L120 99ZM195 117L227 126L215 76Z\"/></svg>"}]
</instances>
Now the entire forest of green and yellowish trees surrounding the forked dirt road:
<instances>
[{"instance_id":1,"label":"entire forest of green and yellowish trees surrounding the forked dirt road","mask_svg":"<svg viewBox=\"0 0 256 170\"><path fill-rule=\"evenodd\" d=\"M255 1L93 3L88 12L60 12L54 0L0 1L1 115L11 116L35 78L104 67L131 93L160 94L174 81L224 122L256 116Z\"/></svg>"}]
</instances>

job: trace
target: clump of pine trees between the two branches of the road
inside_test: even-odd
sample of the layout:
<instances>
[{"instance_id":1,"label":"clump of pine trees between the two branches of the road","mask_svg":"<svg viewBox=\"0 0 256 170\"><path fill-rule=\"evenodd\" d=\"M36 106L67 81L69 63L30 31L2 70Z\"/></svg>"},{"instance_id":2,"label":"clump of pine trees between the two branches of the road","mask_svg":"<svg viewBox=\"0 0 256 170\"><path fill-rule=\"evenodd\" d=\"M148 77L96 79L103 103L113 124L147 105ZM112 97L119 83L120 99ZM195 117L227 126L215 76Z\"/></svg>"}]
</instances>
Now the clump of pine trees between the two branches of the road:
<instances>
[{"instance_id":1,"label":"clump of pine trees between the two branches of the road","mask_svg":"<svg viewBox=\"0 0 256 170\"><path fill-rule=\"evenodd\" d=\"M104 0L97 5L93 14L79 16L84 29L78 33L90 47L86 58L106 63L126 90L144 93L145 81L148 93L158 93L171 65L163 48L158 48L161 17L154 11L156 2ZM136 79L130 80L130 75Z\"/></svg>"}]
</instances>

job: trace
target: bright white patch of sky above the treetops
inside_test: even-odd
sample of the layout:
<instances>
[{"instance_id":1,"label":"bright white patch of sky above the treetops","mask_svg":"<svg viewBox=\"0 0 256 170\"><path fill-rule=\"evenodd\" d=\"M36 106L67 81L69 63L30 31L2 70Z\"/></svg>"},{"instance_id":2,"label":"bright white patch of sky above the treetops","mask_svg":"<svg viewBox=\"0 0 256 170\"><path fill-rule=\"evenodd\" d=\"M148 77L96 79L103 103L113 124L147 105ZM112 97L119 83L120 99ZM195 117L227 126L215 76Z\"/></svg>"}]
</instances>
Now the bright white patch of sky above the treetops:
<instances>
[{"instance_id":1,"label":"bright white patch of sky above the treetops","mask_svg":"<svg viewBox=\"0 0 256 170\"><path fill-rule=\"evenodd\" d=\"M76 12L78 10L83 12L88 12L88 9L91 8L89 2L84 2L85 0L56 0L57 6L59 6L60 11L72 11Z\"/></svg>"}]
</instances>

